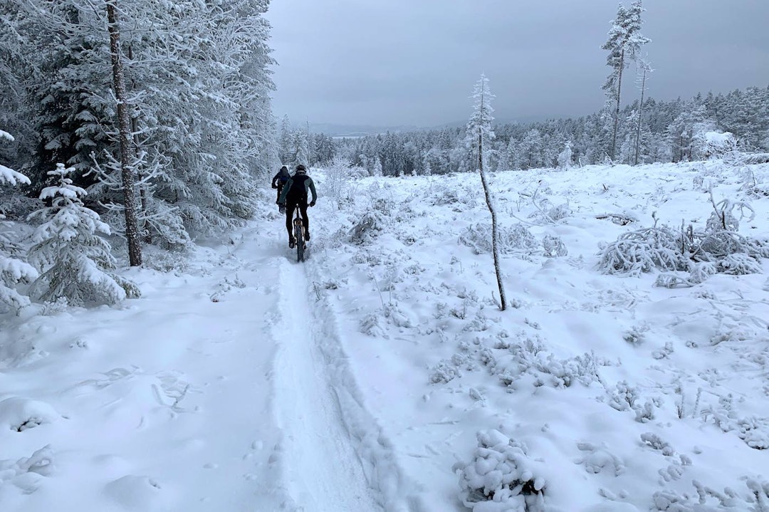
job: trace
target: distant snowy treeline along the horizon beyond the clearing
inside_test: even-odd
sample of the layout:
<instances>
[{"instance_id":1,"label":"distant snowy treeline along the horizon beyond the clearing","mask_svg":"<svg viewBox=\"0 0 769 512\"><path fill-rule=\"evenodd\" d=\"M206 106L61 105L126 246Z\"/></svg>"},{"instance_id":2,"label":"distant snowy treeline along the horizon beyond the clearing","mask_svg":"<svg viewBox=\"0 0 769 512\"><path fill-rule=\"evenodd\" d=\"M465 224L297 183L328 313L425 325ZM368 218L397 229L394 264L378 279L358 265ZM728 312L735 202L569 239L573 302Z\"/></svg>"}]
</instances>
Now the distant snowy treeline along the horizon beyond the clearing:
<instances>
[{"instance_id":1,"label":"distant snowy treeline along the horizon beyond the clearing","mask_svg":"<svg viewBox=\"0 0 769 512\"><path fill-rule=\"evenodd\" d=\"M639 123L639 111L641 119ZM695 141L707 131L729 131L742 151L769 151L769 86L698 94L690 100L644 99L621 111L617 163L687 161L701 158ZM496 125L489 152L491 170L549 168L569 146L571 165L608 160L614 118L608 108L576 119ZM638 144L636 138L638 137ZM311 135L310 161L341 157L372 175L425 175L472 171L464 128L387 132L361 138ZM568 152L567 152L568 155ZM290 157L289 157L290 160Z\"/></svg>"}]
</instances>

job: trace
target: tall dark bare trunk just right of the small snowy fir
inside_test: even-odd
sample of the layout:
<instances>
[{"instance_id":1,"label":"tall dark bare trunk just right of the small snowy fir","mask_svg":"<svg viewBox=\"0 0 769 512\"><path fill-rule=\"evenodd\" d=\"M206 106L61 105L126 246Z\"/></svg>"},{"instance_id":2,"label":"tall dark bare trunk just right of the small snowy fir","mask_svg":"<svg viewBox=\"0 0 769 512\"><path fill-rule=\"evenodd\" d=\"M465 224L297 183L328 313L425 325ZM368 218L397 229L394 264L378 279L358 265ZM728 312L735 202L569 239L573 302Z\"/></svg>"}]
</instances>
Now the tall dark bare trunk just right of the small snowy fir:
<instances>
[{"instance_id":1,"label":"tall dark bare trunk just right of the small snowy fir","mask_svg":"<svg viewBox=\"0 0 769 512\"><path fill-rule=\"evenodd\" d=\"M115 84L115 98L118 101L118 135L120 140L120 168L123 184L123 206L125 211L125 238L128 239L128 261L131 267L141 265L141 241L139 241L136 220L136 191L133 169L131 168L131 118L126 102L125 78L120 52L120 27L118 26L118 0L107 2L107 28L109 51L112 56L112 79Z\"/></svg>"}]
</instances>

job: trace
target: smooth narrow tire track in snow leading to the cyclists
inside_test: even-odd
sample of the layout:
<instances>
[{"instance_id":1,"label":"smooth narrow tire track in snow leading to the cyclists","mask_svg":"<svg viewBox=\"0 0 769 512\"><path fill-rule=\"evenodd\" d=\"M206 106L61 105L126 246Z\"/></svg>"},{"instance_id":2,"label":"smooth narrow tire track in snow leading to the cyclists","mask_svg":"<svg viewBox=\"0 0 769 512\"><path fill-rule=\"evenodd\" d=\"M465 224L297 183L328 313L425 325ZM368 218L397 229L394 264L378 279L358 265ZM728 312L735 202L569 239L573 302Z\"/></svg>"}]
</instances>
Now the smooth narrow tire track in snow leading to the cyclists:
<instances>
[{"instance_id":1,"label":"smooth narrow tire track in snow leading to the cyclists","mask_svg":"<svg viewBox=\"0 0 769 512\"><path fill-rule=\"evenodd\" d=\"M304 266L280 268L275 359L275 414L283 432L282 470L294 510L384 510L372 490L341 414L319 345L322 322L313 318Z\"/></svg>"}]
</instances>

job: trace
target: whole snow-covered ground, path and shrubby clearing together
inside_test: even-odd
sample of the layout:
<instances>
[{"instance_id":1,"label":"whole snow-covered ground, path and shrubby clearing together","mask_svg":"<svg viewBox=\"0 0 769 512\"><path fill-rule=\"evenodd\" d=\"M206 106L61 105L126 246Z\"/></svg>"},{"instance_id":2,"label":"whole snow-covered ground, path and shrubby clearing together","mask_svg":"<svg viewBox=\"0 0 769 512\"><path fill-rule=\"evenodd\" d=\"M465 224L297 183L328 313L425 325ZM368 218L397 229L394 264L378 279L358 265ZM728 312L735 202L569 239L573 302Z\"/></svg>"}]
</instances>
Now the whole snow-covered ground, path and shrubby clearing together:
<instances>
[{"instance_id":1,"label":"whole snow-covered ground, path and shrubby clearing together","mask_svg":"<svg viewBox=\"0 0 769 512\"><path fill-rule=\"evenodd\" d=\"M304 264L265 189L139 299L0 317L0 510L769 510L769 261L597 268L708 188L765 241L769 165L491 176L507 311L478 175L311 175Z\"/></svg>"}]
</instances>

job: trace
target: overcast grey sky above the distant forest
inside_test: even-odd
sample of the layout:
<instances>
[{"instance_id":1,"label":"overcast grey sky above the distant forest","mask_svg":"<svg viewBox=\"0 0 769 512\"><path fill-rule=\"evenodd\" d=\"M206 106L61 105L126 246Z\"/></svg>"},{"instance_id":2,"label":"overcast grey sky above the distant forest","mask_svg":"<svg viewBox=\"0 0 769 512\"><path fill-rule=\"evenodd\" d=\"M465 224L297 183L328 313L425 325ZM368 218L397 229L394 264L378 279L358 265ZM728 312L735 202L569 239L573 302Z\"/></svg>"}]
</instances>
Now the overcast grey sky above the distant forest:
<instances>
[{"instance_id":1,"label":"overcast grey sky above the distant forest","mask_svg":"<svg viewBox=\"0 0 769 512\"><path fill-rule=\"evenodd\" d=\"M624 0L629 5L630 0ZM597 111L617 0L272 0L275 115L463 121L481 73L499 120ZM646 0L647 95L769 85L769 0ZM634 67L629 75L634 77ZM637 89L623 88L624 98Z\"/></svg>"}]
</instances>

